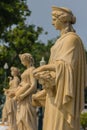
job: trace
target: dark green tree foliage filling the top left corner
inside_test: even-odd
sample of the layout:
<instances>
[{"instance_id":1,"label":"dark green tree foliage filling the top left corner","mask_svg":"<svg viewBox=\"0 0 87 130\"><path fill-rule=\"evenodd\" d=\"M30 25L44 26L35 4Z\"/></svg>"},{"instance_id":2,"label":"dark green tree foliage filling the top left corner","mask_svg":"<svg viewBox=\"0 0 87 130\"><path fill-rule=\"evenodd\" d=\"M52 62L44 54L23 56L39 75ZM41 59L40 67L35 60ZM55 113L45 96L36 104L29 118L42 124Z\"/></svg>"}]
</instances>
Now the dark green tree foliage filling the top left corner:
<instances>
[{"instance_id":1,"label":"dark green tree foliage filling the top left corner","mask_svg":"<svg viewBox=\"0 0 87 130\"><path fill-rule=\"evenodd\" d=\"M0 1L0 37L8 31L13 24L24 22L30 15L26 0L1 0Z\"/></svg>"}]
</instances>

